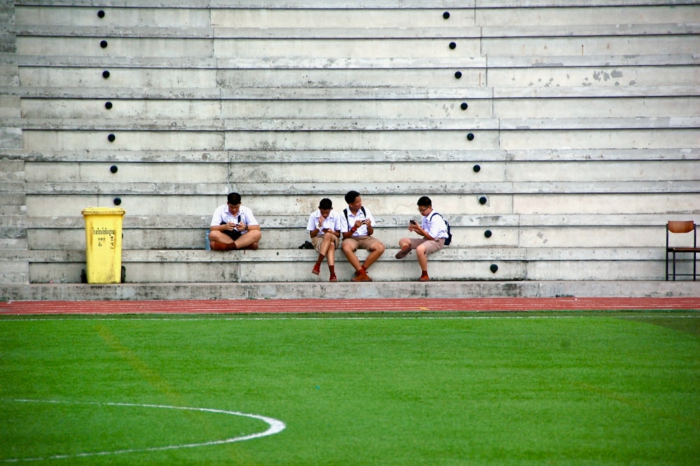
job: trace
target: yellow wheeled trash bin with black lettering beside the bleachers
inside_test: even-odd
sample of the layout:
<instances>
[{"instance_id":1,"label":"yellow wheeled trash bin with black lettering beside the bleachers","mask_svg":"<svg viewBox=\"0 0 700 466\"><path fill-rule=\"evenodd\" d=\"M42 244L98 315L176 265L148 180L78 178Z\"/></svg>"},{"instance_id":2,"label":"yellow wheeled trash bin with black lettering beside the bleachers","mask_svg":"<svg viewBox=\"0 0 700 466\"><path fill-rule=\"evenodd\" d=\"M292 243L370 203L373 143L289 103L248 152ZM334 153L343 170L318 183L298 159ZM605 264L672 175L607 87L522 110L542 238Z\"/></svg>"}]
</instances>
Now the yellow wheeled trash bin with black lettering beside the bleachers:
<instances>
[{"instance_id":1,"label":"yellow wheeled trash bin with black lettering beside the bleachers","mask_svg":"<svg viewBox=\"0 0 700 466\"><path fill-rule=\"evenodd\" d=\"M83 209L87 283L120 283L124 281L122 219L125 213L121 207L87 207Z\"/></svg>"}]
</instances>

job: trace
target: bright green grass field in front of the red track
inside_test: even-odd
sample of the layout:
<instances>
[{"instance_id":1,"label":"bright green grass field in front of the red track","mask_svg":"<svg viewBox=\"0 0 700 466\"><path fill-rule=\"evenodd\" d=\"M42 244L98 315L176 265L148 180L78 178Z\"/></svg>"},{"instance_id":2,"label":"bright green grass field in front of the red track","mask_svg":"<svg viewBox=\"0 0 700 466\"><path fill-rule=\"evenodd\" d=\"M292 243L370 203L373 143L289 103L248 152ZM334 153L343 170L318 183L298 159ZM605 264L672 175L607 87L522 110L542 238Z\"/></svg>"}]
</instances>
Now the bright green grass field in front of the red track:
<instances>
[{"instance_id":1,"label":"bright green grass field in front of the red track","mask_svg":"<svg viewBox=\"0 0 700 466\"><path fill-rule=\"evenodd\" d=\"M0 380L0 462L700 462L692 312L3 316Z\"/></svg>"}]
</instances>

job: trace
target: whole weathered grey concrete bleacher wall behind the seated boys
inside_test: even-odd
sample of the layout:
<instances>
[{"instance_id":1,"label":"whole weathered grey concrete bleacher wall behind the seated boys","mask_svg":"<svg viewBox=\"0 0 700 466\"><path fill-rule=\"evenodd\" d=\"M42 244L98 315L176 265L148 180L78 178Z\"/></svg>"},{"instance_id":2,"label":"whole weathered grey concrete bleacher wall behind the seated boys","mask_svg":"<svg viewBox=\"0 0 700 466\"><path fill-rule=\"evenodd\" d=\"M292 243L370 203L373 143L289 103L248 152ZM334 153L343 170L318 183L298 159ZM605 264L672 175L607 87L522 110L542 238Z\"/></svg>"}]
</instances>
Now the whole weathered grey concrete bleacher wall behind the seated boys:
<instances>
[{"instance_id":1,"label":"whole weathered grey concrete bleacher wall behind the seated boys","mask_svg":"<svg viewBox=\"0 0 700 466\"><path fill-rule=\"evenodd\" d=\"M80 282L117 198L129 282L327 280L298 246L351 189L374 280L420 275L423 195L434 280L664 280L666 221L700 222L693 1L230 3L0 3L0 283ZM230 191L257 252L204 250Z\"/></svg>"}]
</instances>

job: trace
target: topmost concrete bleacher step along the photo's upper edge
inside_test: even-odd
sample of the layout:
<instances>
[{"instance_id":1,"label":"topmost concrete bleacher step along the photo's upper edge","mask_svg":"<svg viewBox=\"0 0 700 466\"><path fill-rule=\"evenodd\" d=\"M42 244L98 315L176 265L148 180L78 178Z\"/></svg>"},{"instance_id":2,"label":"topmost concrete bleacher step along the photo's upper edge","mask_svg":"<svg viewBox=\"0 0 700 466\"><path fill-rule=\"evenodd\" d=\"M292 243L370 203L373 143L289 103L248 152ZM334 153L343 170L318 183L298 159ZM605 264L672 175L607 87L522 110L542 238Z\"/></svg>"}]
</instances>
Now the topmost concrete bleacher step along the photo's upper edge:
<instances>
[{"instance_id":1,"label":"topmost concrete bleacher step along the photo's upper edge","mask_svg":"<svg viewBox=\"0 0 700 466\"><path fill-rule=\"evenodd\" d=\"M101 21L95 15L96 9L100 7L88 4L78 4L73 8L57 8L62 6L57 4L52 8L52 14L46 15L45 6L37 5L36 2L14 3L20 24L91 26ZM546 25L643 25L681 23L695 12L694 2L689 0L645 0L627 2L624 5L625 8L619 8L618 4L606 1L568 4L557 0L491 0L484 4L473 0L402 0L397 6L395 2L364 0L356 8L349 8L346 1L278 0L274 2L274 8L261 8L259 0L245 0L237 1L237 8L230 8L230 4L225 1L189 1L186 5L174 2L164 8L159 1L139 0L130 3L132 8L105 8L106 16L102 22L114 22L125 27L258 25L262 28L276 28L297 25L309 29L347 25L391 27L400 24L419 27L474 24L519 27L542 25L542 18L547 18ZM673 8L663 8L669 5ZM449 19L444 18L445 11L449 13Z\"/></svg>"}]
</instances>

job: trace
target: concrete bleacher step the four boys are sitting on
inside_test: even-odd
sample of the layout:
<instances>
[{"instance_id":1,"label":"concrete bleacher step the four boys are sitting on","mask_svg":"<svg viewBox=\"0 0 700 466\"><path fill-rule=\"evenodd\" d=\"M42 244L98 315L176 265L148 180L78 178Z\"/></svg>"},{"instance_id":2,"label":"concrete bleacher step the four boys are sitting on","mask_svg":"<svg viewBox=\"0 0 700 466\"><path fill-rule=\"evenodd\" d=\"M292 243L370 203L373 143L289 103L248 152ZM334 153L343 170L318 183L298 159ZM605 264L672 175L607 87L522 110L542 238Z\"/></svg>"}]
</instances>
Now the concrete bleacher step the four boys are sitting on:
<instances>
[{"instance_id":1,"label":"concrete bleacher step the four boys are sitting on","mask_svg":"<svg viewBox=\"0 0 700 466\"><path fill-rule=\"evenodd\" d=\"M414 282L420 268L414 253L397 260L398 248L388 247L370 268L377 282ZM349 281L354 270L342 251L336 251L335 270ZM365 251L358 251L363 260ZM85 270L84 250L29 250L3 252L8 261L27 261L34 283L80 282ZM313 250L259 249L216 252L203 249L144 249L122 252L126 282L325 282L328 266L312 275L318 258ZM528 248L445 247L432 254L428 270L433 280L663 280L665 258L659 248ZM691 273L692 260L680 258L678 273Z\"/></svg>"}]
</instances>

